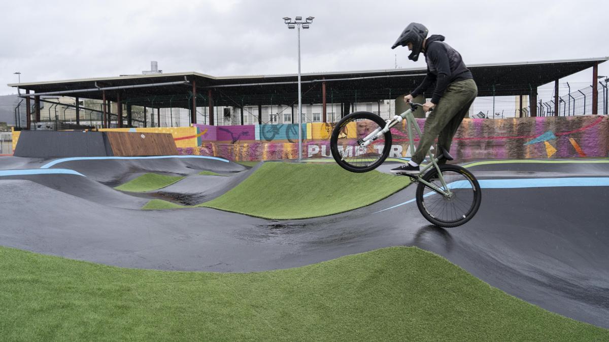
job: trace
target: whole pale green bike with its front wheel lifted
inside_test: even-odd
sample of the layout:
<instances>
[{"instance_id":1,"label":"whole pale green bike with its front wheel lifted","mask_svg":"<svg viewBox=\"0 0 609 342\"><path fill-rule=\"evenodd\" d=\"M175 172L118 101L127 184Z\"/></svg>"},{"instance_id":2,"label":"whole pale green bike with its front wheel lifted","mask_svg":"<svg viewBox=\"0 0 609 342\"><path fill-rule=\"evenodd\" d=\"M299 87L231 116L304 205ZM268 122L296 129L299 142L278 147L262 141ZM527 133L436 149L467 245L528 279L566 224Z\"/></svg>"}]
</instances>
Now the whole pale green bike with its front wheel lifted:
<instances>
[{"instance_id":1,"label":"whole pale green bike with its front wheel lifted","mask_svg":"<svg viewBox=\"0 0 609 342\"><path fill-rule=\"evenodd\" d=\"M421 129L412 114L420 103L409 103L410 109L393 119L383 120L369 112L356 112L343 117L334 127L330 138L330 149L334 160L345 170L368 172L376 169L392 151L391 128L406 120L410 151L414 153L412 127L421 136ZM343 128L349 127L346 137L341 138ZM399 149L399 148L398 148ZM443 164L453 160L448 151L438 146L438 155L429 149L429 161L421 165L421 172L409 176L417 183L417 207L423 217L434 225L451 228L463 225L476 215L482 201L480 184L476 177L464 167ZM441 161L442 165L438 164Z\"/></svg>"}]
</instances>

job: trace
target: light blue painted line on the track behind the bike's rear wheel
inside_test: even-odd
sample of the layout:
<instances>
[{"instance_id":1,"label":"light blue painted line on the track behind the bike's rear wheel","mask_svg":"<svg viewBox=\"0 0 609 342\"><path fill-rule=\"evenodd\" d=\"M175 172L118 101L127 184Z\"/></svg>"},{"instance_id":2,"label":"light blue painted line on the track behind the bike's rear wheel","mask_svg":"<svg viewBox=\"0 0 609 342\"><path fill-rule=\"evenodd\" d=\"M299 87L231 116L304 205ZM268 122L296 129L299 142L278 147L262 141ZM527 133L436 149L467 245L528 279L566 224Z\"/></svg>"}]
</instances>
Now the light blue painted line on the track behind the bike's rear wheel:
<instances>
[{"instance_id":1,"label":"light blue painted line on the track behind the bike's rear wheel","mask_svg":"<svg viewBox=\"0 0 609 342\"><path fill-rule=\"evenodd\" d=\"M523 178L515 180L479 180L478 183L482 189L519 189L526 187L568 187L568 186L609 186L609 177L568 177L568 178ZM450 189L463 189L470 187L468 181L456 181L448 184ZM434 192L428 192L423 197L428 197ZM389 209L398 208L416 201L416 198L404 203L396 204L387 209L382 209L378 212L387 211Z\"/></svg>"}]
</instances>

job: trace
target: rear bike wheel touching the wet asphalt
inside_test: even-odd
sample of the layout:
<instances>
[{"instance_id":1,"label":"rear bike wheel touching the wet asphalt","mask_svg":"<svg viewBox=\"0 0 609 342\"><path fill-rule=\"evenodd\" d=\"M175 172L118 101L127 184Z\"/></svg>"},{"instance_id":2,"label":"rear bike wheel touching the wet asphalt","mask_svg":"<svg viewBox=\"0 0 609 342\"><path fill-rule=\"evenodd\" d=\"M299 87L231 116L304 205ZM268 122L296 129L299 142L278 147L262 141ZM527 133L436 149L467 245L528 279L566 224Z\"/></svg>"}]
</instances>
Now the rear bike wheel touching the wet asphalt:
<instances>
[{"instance_id":1,"label":"rear bike wheel touching the wet asphalt","mask_svg":"<svg viewBox=\"0 0 609 342\"><path fill-rule=\"evenodd\" d=\"M480 184L469 170L458 165L442 165L440 172L451 191L451 196L438 194L426 184L419 183L418 209L423 217L436 226L451 228L463 225L476 215L480 207ZM445 190L435 167L423 175L423 180Z\"/></svg>"}]
</instances>

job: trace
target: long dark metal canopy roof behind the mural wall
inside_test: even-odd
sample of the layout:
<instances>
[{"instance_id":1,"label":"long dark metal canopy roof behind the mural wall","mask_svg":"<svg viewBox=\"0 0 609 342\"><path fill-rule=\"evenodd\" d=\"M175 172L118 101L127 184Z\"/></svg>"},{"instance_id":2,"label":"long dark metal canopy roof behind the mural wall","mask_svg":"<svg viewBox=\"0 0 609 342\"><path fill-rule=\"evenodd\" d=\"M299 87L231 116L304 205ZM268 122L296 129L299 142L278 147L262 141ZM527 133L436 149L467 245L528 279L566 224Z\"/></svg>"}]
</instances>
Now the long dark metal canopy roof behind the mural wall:
<instances>
[{"instance_id":1,"label":"long dark metal canopy roof behind the mural wall","mask_svg":"<svg viewBox=\"0 0 609 342\"><path fill-rule=\"evenodd\" d=\"M609 57L577 60L535 61L469 65L478 85L478 96L527 95L537 86L588 69ZM326 102L376 102L395 99L412 91L423 80L426 69L388 69L302 74L303 103L322 103L322 82L326 81ZM185 83L188 81L188 83ZM198 72L129 75L96 79L20 83L9 86L37 93L62 92L72 97L102 99L100 88L108 89L106 98L116 102L152 108L189 108L192 82L196 83L197 106L208 105L211 90L214 105L292 105L298 99L297 75L250 75L213 77ZM174 83L175 82L175 83ZM158 85L158 83L174 83ZM96 89L93 89L96 88ZM493 91L494 88L494 91ZM88 91L83 91L88 89ZM426 96L431 96L431 91Z\"/></svg>"}]
</instances>

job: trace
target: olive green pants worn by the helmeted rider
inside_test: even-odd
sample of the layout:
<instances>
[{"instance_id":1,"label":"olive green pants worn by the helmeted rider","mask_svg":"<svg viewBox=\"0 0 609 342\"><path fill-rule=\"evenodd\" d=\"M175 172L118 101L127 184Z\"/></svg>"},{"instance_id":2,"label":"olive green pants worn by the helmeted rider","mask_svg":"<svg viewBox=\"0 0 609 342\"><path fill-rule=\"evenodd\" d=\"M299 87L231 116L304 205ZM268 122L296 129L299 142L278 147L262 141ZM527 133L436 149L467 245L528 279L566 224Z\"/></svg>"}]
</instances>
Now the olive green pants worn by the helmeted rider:
<instances>
[{"instance_id":1,"label":"olive green pants worn by the helmeted rider","mask_svg":"<svg viewBox=\"0 0 609 342\"><path fill-rule=\"evenodd\" d=\"M472 79L454 82L446 87L440 102L425 120L423 136L417 151L412 155L412 161L421 164L436 137L439 146L443 146L446 150L451 149L452 137L457 133L463 117L470 110L477 94L478 88ZM436 156L440 154L440 148L436 148L435 154Z\"/></svg>"}]
</instances>

